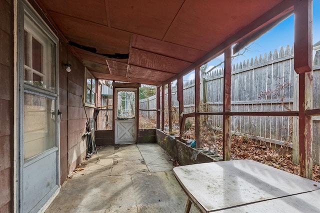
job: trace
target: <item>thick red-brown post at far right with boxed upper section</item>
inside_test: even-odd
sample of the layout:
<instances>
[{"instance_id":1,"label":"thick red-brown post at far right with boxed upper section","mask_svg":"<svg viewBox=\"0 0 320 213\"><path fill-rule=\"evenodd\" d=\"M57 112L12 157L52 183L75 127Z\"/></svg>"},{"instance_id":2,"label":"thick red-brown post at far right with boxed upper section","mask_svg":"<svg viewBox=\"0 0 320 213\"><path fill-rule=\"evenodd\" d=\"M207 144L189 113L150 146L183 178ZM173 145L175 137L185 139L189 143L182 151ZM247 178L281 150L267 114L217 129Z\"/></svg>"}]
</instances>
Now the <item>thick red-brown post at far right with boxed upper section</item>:
<instances>
[{"instance_id":1,"label":"thick red-brown post at far right with boxed upper section","mask_svg":"<svg viewBox=\"0 0 320 213\"><path fill-rule=\"evenodd\" d=\"M299 74L300 176L312 178L312 0L294 0L294 70Z\"/></svg>"}]
</instances>

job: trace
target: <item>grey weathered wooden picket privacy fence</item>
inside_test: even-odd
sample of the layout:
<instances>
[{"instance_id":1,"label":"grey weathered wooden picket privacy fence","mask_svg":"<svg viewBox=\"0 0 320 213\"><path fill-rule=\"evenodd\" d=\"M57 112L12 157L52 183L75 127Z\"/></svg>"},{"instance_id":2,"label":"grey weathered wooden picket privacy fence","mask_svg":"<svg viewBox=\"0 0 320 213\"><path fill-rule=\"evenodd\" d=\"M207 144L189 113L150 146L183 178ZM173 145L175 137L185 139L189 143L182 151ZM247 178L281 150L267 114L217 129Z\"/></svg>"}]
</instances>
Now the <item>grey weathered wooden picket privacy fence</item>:
<instances>
[{"instance_id":1,"label":"grey weathered wooden picket privacy fence","mask_svg":"<svg viewBox=\"0 0 320 213\"><path fill-rule=\"evenodd\" d=\"M313 108L320 108L320 50L314 56L313 65ZM201 108L207 112L221 112L223 100L223 69L216 69L202 76ZM233 64L231 75L231 111L290 111L297 110L297 74L293 69L293 48L286 46L275 49L273 54L260 55ZM203 97L203 93L206 95ZM172 86L173 116L178 116L176 86ZM167 99L167 91L165 91ZM194 112L194 81L183 85L184 113ZM155 95L140 100L140 109L156 109ZM167 117L167 101L164 107ZM175 113L174 113L175 112ZM141 111L148 116L147 111ZM222 115L208 115L207 123L214 128L222 128ZM245 133L253 138L275 144L289 144L292 136L292 117L288 116L232 116L231 130ZM320 117L313 116L313 158L319 163Z\"/></svg>"}]
</instances>

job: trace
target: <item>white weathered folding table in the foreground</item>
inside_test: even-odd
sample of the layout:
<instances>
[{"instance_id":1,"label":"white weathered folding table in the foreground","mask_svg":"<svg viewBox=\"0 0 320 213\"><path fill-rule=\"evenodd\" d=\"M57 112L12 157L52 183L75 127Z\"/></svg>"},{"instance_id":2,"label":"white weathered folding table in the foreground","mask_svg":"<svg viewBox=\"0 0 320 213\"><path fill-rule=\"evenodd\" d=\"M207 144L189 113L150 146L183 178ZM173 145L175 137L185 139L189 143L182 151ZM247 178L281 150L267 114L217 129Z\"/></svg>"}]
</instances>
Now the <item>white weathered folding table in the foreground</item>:
<instances>
[{"instance_id":1,"label":"white weathered folding table in the foreground","mask_svg":"<svg viewBox=\"0 0 320 213\"><path fill-rule=\"evenodd\" d=\"M320 183L253 161L231 160L173 168L202 212L320 212Z\"/></svg>"}]
</instances>

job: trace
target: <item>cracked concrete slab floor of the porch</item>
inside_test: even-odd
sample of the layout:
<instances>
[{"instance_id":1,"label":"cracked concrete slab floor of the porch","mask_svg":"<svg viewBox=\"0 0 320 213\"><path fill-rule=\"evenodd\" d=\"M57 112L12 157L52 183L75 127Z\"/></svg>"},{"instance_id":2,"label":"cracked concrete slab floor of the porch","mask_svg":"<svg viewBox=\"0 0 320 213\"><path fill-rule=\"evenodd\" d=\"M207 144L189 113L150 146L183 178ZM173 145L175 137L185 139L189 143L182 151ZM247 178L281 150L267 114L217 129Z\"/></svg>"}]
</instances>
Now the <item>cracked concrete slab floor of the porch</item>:
<instances>
[{"instance_id":1,"label":"cracked concrete slab floor of the porch","mask_svg":"<svg viewBox=\"0 0 320 213\"><path fill-rule=\"evenodd\" d=\"M155 143L106 146L82 162L45 212L184 212L187 196ZM193 205L190 212L199 212Z\"/></svg>"}]
</instances>

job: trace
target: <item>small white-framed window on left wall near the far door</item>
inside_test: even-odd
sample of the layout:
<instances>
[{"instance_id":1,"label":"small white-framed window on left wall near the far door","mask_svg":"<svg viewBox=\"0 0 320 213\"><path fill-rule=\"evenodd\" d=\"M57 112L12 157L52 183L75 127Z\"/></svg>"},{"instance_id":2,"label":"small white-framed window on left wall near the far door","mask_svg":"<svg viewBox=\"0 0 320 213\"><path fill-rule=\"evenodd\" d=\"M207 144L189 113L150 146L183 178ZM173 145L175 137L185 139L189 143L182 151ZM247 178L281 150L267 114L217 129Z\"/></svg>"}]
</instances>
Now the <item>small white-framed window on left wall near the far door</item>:
<instances>
[{"instance_id":1,"label":"small white-framed window on left wall near the far door","mask_svg":"<svg viewBox=\"0 0 320 213\"><path fill-rule=\"evenodd\" d=\"M91 79L91 86L88 87L88 79ZM92 82L94 81L94 86L92 86ZM89 90L89 101L87 100L87 90ZM95 107L96 104L96 79L95 77L92 75L92 73L86 68L84 67L84 86L83 86L83 99L84 99L84 104L85 106L88 107ZM92 94L93 99L92 99ZM92 101L93 100L93 101Z\"/></svg>"}]
</instances>

